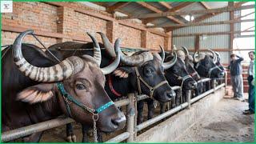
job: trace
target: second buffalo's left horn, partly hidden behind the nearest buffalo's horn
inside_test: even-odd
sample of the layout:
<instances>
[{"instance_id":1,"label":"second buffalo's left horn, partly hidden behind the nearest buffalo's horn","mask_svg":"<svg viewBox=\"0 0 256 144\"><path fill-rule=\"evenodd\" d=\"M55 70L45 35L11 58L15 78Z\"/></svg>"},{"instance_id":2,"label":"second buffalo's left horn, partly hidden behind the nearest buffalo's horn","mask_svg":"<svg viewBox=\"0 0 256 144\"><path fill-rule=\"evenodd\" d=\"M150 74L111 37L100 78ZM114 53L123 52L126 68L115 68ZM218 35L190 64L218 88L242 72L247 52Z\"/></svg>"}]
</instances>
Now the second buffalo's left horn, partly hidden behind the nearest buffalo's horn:
<instances>
[{"instance_id":1,"label":"second buffalo's left horn, partly hidden behind the nearest buffalo's horn","mask_svg":"<svg viewBox=\"0 0 256 144\"><path fill-rule=\"evenodd\" d=\"M102 32L98 32L98 34L100 34L102 37L102 42L106 48L106 51L110 54L111 57L115 58L116 54L114 53L114 48L113 46L111 46L108 38L106 38L106 34L103 34ZM143 62L152 60L153 55L150 52L143 52L142 54L138 54L138 55L126 56L121 51L120 59L123 63L125 63L128 66L138 66Z\"/></svg>"}]
</instances>

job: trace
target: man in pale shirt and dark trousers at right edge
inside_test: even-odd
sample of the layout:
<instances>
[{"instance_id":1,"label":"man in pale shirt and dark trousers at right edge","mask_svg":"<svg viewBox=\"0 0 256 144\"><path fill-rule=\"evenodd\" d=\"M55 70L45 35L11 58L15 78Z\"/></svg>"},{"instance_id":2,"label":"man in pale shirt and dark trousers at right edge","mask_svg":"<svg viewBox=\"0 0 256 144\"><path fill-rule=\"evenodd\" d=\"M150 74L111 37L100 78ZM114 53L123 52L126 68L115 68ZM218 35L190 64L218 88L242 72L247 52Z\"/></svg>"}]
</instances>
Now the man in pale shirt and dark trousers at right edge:
<instances>
[{"instance_id":1,"label":"man in pale shirt and dark trousers at right edge","mask_svg":"<svg viewBox=\"0 0 256 144\"><path fill-rule=\"evenodd\" d=\"M249 69L248 69L248 84L249 84L249 90L248 90L248 94L249 94L249 98L248 98L248 102L249 102L249 109L248 110L244 110L243 114L254 114L254 110L255 110L255 106L254 106L254 100L255 100L255 91L254 91L254 74L255 74L255 69L254 69L254 55L255 52L254 51L250 51L249 53L249 57L250 57L250 65L249 65Z\"/></svg>"}]
</instances>

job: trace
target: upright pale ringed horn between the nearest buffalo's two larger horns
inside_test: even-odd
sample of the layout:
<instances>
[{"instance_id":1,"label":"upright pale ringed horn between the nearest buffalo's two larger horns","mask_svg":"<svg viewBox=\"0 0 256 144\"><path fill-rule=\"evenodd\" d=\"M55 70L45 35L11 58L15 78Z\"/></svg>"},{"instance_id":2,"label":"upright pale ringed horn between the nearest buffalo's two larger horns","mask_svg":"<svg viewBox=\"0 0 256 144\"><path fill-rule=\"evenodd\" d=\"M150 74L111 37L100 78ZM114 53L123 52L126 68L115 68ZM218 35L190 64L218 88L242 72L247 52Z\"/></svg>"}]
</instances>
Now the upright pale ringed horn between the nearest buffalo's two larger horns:
<instances>
[{"instance_id":1,"label":"upright pale ringed horn between the nearest buffalo's two larger horns","mask_svg":"<svg viewBox=\"0 0 256 144\"><path fill-rule=\"evenodd\" d=\"M89 32L87 32L86 34L89 35L90 39L93 41L94 43L94 59L96 60L98 66L101 66L101 62L102 62L102 53L101 53L101 48L98 45L98 41L96 40L96 38L94 38L94 36L92 34L90 34Z\"/></svg>"}]
</instances>

